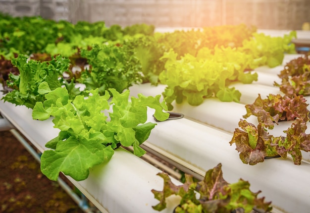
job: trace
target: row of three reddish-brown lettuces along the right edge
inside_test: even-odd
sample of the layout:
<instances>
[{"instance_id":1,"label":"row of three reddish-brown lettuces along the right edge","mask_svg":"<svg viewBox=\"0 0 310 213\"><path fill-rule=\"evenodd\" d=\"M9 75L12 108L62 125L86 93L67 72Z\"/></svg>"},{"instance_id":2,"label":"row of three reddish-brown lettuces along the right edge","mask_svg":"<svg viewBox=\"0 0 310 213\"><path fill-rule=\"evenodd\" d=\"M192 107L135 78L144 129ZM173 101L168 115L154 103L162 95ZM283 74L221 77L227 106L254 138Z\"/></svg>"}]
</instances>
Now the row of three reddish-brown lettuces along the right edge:
<instances>
[{"instance_id":1,"label":"row of three reddish-brown lettuces along the right edge","mask_svg":"<svg viewBox=\"0 0 310 213\"><path fill-rule=\"evenodd\" d=\"M304 96L310 93L310 53L289 61L278 76L284 95L269 94L258 98L253 104L245 106L243 118L254 115L258 125L241 119L234 131L230 144L236 144L240 159L247 164L255 165L266 158L293 158L294 164L302 163L302 151L310 151L310 134L306 133L309 122L309 104ZM280 136L273 136L268 129L273 129L282 121L292 121L291 127L283 130Z\"/></svg>"}]
</instances>

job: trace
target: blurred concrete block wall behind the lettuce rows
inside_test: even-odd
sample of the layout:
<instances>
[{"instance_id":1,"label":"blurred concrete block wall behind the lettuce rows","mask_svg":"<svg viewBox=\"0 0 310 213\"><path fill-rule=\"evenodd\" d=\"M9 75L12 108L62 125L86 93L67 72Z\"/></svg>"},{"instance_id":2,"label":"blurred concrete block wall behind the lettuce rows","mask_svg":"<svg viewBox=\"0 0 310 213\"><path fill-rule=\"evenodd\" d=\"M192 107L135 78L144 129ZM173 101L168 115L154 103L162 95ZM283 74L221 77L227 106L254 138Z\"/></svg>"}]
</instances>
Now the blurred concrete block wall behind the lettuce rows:
<instances>
[{"instance_id":1,"label":"blurred concrete block wall behind the lettuce rows","mask_svg":"<svg viewBox=\"0 0 310 213\"><path fill-rule=\"evenodd\" d=\"M310 0L0 0L0 11L55 20L136 23L156 27L256 25L259 29L300 30L310 22Z\"/></svg>"}]
</instances>

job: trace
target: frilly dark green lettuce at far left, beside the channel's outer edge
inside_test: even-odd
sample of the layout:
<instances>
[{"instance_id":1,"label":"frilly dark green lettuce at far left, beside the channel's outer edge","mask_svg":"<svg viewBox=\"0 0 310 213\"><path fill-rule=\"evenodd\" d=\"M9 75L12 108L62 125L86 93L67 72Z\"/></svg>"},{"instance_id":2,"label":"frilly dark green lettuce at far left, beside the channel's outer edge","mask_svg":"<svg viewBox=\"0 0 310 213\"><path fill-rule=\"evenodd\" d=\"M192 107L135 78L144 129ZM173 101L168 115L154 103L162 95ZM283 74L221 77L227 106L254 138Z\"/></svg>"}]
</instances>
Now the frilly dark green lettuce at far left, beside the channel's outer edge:
<instances>
[{"instance_id":1,"label":"frilly dark green lettuce at far left, beside the channel's outer edge","mask_svg":"<svg viewBox=\"0 0 310 213\"><path fill-rule=\"evenodd\" d=\"M2 99L4 101L25 105L33 108L36 102L44 102L43 94L38 92L39 85L46 82L51 90L63 85L62 73L68 69L69 60L60 55L51 61L28 60L25 55L19 54L12 59L12 64L19 69L19 75L9 75L8 86L14 88Z\"/></svg>"}]
</instances>

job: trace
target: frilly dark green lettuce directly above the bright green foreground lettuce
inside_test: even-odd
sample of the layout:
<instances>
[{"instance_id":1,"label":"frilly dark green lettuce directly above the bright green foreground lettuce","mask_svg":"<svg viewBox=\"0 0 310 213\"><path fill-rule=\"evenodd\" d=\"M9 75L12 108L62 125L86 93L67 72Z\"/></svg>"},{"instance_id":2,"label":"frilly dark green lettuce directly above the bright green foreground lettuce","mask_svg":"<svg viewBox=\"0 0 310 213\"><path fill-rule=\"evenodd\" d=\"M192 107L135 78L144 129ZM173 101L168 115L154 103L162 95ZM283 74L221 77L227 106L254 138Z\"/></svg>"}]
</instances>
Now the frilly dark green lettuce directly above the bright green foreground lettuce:
<instances>
[{"instance_id":1,"label":"frilly dark green lettuce directly above the bright green foreground lettuce","mask_svg":"<svg viewBox=\"0 0 310 213\"><path fill-rule=\"evenodd\" d=\"M81 50L90 68L77 79L87 90L99 88L101 94L109 88L123 92L142 82L141 64L134 50L112 44L93 45L91 50Z\"/></svg>"}]
</instances>

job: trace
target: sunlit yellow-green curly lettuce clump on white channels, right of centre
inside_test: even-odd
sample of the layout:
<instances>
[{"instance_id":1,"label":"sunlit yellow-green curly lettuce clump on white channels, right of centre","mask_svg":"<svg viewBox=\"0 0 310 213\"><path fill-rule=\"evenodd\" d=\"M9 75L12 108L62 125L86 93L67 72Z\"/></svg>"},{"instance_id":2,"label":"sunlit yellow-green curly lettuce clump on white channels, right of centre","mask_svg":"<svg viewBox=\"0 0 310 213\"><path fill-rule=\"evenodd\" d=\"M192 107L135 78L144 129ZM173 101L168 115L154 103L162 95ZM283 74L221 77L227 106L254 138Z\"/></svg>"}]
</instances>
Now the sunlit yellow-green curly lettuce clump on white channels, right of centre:
<instances>
[{"instance_id":1,"label":"sunlit yellow-green curly lettuce clump on white channels, right of centre","mask_svg":"<svg viewBox=\"0 0 310 213\"><path fill-rule=\"evenodd\" d=\"M180 104L186 99L192 106L202 104L208 97L239 102L240 92L228 86L238 80L243 83L257 80L256 73L244 73L253 58L246 54L243 57L235 49L215 48L212 53L204 48L197 57L185 54L177 59L177 56L177 53L170 50L161 57L166 62L159 80L167 85L163 96L169 109L172 109L171 103L174 100Z\"/></svg>"}]
</instances>

